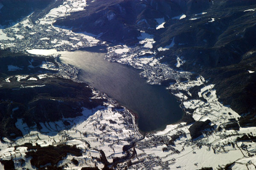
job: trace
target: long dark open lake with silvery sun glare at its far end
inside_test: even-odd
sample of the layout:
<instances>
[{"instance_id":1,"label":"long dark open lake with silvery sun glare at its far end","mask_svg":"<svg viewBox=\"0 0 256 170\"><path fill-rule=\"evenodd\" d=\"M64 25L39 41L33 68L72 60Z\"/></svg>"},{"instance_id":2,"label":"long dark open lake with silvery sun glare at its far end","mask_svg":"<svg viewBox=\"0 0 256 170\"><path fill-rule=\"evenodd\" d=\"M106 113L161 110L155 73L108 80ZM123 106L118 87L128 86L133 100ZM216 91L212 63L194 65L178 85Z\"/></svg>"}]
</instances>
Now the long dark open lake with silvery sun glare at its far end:
<instances>
[{"instance_id":1,"label":"long dark open lake with silvery sun glare at its far end","mask_svg":"<svg viewBox=\"0 0 256 170\"><path fill-rule=\"evenodd\" d=\"M163 130L167 124L179 121L183 111L165 86L149 85L134 69L120 63L104 61L99 48L64 52L60 60L81 69L79 79L105 92L122 106L136 112L138 127L143 132Z\"/></svg>"}]
</instances>

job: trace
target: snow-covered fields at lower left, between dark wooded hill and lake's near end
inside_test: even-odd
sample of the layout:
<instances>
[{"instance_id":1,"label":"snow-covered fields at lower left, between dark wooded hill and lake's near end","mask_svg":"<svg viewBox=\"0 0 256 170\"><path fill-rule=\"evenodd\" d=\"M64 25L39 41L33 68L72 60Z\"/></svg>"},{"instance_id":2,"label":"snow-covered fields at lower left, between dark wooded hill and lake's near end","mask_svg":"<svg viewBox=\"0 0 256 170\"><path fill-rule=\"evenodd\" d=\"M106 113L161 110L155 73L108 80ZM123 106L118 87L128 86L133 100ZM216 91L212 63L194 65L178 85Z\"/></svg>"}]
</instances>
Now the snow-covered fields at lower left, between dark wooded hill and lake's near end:
<instances>
[{"instance_id":1,"label":"snow-covered fields at lower left, between dark wooded hill and lake's near end","mask_svg":"<svg viewBox=\"0 0 256 170\"><path fill-rule=\"evenodd\" d=\"M95 97L100 95L96 91L94 94ZM83 156L68 155L67 158L59 162L59 165L67 164L65 168L67 170L80 170L81 167L94 167L95 164L99 168L103 168L102 163L92 158L92 156L99 158L99 150L102 150L108 161L112 162L115 157L125 156L125 152L122 150L124 145L142 138L135 124L134 116L125 108L115 110L114 107L115 104L107 102L104 107L91 110L83 108L82 116L77 118L63 118L57 122L40 123L41 130L38 130L36 126L29 128L22 119L18 119L15 126L23 133L23 137L17 138L15 141L3 138L5 142L0 143L0 158L5 160L12 158L17 170L22 170L24 167L35 169L31 166L29 158L25 157L27 147L18 147L16 150L11 146L25 143L33 145L37 143L41 147L50 144L75 144L83 151ZM116 123L111 124L110 120ZM70 126L65 126L64 121L68 121ZM26 160L26 164L22 166L18 163L21 158ZM72 158L79 160L78 166L71 163Z\"/></svg>"}]
</instances>

